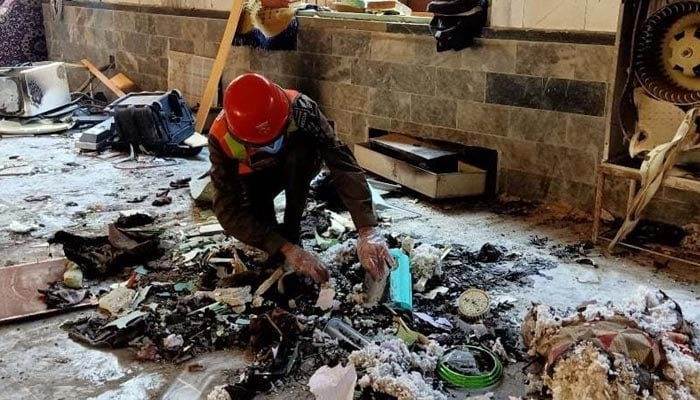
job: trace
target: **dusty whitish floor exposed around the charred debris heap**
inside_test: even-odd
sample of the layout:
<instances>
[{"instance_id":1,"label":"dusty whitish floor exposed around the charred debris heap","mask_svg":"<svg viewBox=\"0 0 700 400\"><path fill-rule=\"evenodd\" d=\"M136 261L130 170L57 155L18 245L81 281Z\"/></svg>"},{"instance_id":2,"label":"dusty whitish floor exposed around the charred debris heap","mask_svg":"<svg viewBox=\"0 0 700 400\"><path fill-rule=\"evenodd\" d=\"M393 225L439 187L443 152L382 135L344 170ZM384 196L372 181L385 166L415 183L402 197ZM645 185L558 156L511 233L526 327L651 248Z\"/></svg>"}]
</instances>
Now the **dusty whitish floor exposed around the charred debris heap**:
<instances>
[{"instance_id":1,"label":"dusty whitish floor exposed around the charred debris heap","mask_svg":"<svg viewBox=\"0 0 700 400\"><path fill-rule=\"evenodd\" d=\"M49 249L45 240L56 230L69 228L83 233L103 232L105 224L115 219L118 211L146 209L159 217L169 229L187 230L198 218L191 206L187 190L173 191L173 204L154 208L150 205L158 188L171 180L197 176L208 168L206 151L191 160L178 160L171 167L142 170L120 170L111 160L93 159L74 152L73 138L36 137L0 140L0 164L17 162L20 156L37 169L29 176L0 177L0 265L33 262L59 255ZM66 163L69 163L68 165ZM73 163L77 163L73 164ZM28 203L28 195L50 195L45 202ZM149 198L140 204L126 200L140 194ZM66 207L67 202L77 206ZM532 235L546 236L548 246L587 239L590 223L562 216L561 209L541 210L529 217L508 217L484 211L471 204L436 206L414 203L410 198L394 199L402 207L423 214L420 218L392 212L387 229L411 233L424 241L459 243L479 248L485 242L498 243L511 251L551 257L548 248L530 244ZM90 211L92 210L92 211ZM42 224L30 235L10 234L5 227L12 221ZM602 251L602 250L601 250ZM517 299L514 313L522 315L532 302L545 302L556 307L575 307L583 301L624 302L640 287L656 287L666 291L684 310L687 319L700 322L700 273L670 266L657 271L652 260L639 256L595 257L598 269L576 263L559 263L544 271L547 278L535 276L533 287L518 287L508 293ZM580 283L596 281L599 283ZM184 366L140 363L133 353L101 351L86 348L72 340L59 325L78 316L64 314L38 321L0 327L0 399L193 399L225 380L225 370L242 367L245 355L239 352L218 352L199 357ZM204 372L191 373L187 365L200 363ZM506 371L498 398L521 396L526 392L521 365ZM465 395L461 394L463 398ZM278 393L260 398L310 398L301 384L294 384Z\"/></svg>"}]
</instances>

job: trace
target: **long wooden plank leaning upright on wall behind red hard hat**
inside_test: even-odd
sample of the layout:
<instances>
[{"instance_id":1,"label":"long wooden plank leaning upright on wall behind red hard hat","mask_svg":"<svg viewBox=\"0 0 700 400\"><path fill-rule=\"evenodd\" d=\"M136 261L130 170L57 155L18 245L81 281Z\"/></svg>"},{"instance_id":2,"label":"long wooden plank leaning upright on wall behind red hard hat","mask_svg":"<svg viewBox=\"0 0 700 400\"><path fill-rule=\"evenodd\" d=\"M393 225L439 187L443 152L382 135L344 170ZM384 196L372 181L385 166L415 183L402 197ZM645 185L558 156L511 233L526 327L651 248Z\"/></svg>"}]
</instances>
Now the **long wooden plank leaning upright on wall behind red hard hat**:
<instances>
[{"instance_id":1,"label":"long wooden plank leaning upright on wall behind red hard hat","mask_svg":"<svg viewBox=\"0 0 700 400\"><path fill-rule=\"evenodd\" d=\"M209 75L209 81L204 89L202 101L199 104L199 110L197 111L197 123L195 125L195 130L197 132L202 132L204 129L204 124L207 121L207 117L209 116L209 110L214 102L214 96L216 95L219 86L219 80L221 80L221 74L224 72L224 66L226 65L226 60L228 59L228 53L231 51L233 37L236 34L238 21L241 19L242 13L243 0L233 0L233 4L231 5L231 13L228 16L228 22L226 23L226 29L224 30L224 36L221 38L219 51L216 53L214 66L212 67L211 74Z\"/></svg>"}]
</instances>

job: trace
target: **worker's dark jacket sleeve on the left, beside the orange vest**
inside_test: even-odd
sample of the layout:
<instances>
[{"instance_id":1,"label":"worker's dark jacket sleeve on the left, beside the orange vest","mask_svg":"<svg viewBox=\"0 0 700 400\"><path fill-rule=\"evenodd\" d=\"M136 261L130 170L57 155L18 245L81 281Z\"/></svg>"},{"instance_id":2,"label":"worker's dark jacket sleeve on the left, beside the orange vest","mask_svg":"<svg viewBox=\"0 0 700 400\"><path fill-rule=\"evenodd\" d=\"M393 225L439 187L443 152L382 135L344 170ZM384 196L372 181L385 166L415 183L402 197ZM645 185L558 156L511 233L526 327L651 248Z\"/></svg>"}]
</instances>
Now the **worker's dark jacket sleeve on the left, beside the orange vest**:
<instances>
[{"instance_id":1,"label":"worker's dark jacket sleeve on the left, beside the orange vest","mask_svg":"<svg viewBox=\"0 0 700 400\"><path fill-rule=\"evenodd\" d=\"M248 182L238 174L238 161L229 158L219 143L209 136L211 182L214 185L214 213L226 233L272 255L287 241L255 218L248 193Z\"/></svg>"}]
</instances>

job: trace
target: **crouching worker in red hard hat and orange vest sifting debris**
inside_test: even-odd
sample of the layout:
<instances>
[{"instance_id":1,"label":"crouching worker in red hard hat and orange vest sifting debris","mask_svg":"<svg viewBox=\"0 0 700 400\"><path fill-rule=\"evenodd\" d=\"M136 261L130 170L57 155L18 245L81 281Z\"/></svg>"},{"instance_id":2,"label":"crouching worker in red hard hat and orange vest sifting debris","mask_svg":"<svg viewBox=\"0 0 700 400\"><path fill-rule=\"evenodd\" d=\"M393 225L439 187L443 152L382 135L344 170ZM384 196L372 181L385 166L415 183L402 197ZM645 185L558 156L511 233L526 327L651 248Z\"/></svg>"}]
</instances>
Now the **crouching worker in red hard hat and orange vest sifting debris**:
<instances>
[{"instance_id":1,"label":"crouching worker in red hard hat and orange vest sifting debris","mask_svg":"<svg viewBox=\"0 0 700 400\"><path fill-rule=\"evenodd\" d=\"M297 272L326 282L328 270L299 238L311 180L323 161L359 231L360 262L377 280L385 263L393 266L364 172L306 95L257 74L237 77L210 129L209 151L214 212L228 234L270 256L281 253ZM286 207L279 224L273 199L282 190Z\"/></svg>"}]
</instances>

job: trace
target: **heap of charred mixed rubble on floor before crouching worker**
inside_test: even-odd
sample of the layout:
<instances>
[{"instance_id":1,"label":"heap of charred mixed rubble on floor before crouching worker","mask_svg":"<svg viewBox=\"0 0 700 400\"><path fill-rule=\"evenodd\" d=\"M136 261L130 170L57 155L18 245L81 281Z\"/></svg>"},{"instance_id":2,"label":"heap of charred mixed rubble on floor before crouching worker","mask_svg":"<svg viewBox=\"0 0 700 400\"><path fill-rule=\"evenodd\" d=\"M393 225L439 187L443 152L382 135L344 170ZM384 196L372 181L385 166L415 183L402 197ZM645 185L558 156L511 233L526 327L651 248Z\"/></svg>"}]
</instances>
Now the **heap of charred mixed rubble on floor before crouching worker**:
<instances>
[{"instance_id":1,"label":"heap of charred mixed rubble on floor before crouching worker","mask_svg":"<svg viewBox=\"0 0 700 400\"><path fill-rule=\"evenodd\" d=\"M96 279L117 282L101 296L102 311L63 328L76 341L130 348L143 361L183 363L218 349L250 349L252 365L232 373L231 382L209 398L252 398L278 380L307 380L321 367L330 370L349 360L346 368L358 368L365 393L443 399L435 374L443 347L472 344L496 349L506 363L524 359L512 303L494 304L483 321L467 323L459 316L457 297L467 287L529 285L529 276L556 263L490 243L472 249L404 240L413 283L425 278L423 293L413 296L412 311L383 302L367 307L366 274L351 221L311 205L302 224L307 247L318 243L317 236L338 241L325 250L314 246L331 272L327 287L226 238L221 229L162 233L143 213L121 217L106 236L58 232L52 242L63 244L85 274L84 290L89 292ZM386 237L392 247L406 238ZM399 328L415 337L410 349L396 336Z\"/></svg>"}]
</instances>

